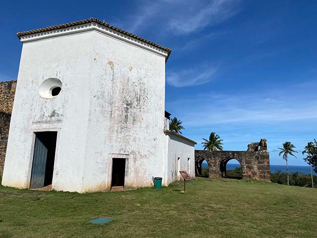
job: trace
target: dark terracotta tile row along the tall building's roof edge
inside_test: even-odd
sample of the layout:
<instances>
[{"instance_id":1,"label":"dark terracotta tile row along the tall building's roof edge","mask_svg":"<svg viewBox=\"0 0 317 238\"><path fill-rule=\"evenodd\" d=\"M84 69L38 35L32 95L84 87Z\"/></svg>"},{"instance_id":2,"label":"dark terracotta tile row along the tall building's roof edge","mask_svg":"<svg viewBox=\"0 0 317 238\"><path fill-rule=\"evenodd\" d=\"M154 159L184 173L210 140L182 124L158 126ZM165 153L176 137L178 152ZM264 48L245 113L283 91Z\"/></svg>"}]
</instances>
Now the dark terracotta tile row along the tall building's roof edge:
<instances>
[{"instance_id":1,"label":"dark terracotta tile row along the tall building's roof edge","mask_svg":"<svg viewBox=\"0 0 317 238\"><path fill-rule=\"evenodd\" d=\"M86 24L86 23L91 23L91 22L96 22L102 26L106 26L107 28L113 29L117 32L120 32L124 35L127 36L131 36L137 40L146 42L149 45L155 46L163 51L166 51L168 53L167 58L169 57L170 53L172 52L171 49L163 47L161 45L158 45L152 41L146 40L140 36L136 36L130 32L124 31L120 28L117 28L115 26L110 25L109 23L106 23L105 21L100 21L98 18L89 18L89 19L85 19L85 20L81 20L81 21L73 21L73 22L69 22L69 23L65 23L65 24L59 24L59 25L54 25L54 26L49 26L49 27L44 27L44 28L40 28L40 29L34 29L34 30L29 30L29 31L23 31L23 32L18 32L16 33L17 37L19 39L21 39L22 36L27 36L27 35L32 35L35 33L41 33L41 32L46 32L46 31L52 31L52 30L56 30L56 29L61 29L61 28L66 28L66 27L70 27L70 26L77 26L77 25L82 25L82 24Z\"/></svg>"}]
</instances>

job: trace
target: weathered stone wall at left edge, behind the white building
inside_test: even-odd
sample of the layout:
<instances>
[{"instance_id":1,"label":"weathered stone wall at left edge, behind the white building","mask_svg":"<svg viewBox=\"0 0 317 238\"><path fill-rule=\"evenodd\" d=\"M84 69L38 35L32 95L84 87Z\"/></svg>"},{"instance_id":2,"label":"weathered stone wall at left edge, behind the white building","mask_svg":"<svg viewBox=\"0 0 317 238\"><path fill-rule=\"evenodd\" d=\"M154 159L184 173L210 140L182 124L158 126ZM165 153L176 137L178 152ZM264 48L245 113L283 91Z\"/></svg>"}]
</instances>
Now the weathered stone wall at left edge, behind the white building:
<instances>
[{"instance_id":1,"label":"weathered stone wall at left edge, behind the white building","mask_svg":"<svg viewBox=\"0 0 317 238\"><path fill-rule=\"evenodd\" d=\"M3 171L15 88L16 80L0 82L0 177Z\"/></svg>"}]
</instances>

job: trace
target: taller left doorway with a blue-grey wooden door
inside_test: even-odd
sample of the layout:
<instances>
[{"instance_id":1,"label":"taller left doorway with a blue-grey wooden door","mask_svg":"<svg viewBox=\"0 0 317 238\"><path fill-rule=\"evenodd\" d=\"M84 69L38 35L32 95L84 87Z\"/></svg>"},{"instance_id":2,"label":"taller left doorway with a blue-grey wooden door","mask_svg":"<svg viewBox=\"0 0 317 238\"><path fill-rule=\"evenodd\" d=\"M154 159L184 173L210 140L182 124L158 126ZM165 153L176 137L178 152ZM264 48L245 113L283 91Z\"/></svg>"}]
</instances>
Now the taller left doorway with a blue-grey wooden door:
<instances>
[{"instance_id":1,"label":"taller left doorway with a blue-grey wooden door","mask_svg":"<svg viewBox=\"0 0 317 238\"><path fill-rule=\"evenodd\" d=\"M30 188L52 188L57 131L35 133Z\"/></svg>"}]
</instances>

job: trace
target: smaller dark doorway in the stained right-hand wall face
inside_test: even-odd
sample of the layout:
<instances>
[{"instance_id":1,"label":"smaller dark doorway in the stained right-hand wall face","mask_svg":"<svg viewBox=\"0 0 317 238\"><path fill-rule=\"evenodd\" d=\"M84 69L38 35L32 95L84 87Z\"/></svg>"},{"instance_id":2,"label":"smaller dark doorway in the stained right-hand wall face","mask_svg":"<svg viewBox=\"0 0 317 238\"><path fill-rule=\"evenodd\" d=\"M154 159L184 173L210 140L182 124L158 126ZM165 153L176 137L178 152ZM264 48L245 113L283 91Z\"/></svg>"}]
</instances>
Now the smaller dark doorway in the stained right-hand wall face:
<instances>
[{"instance_id":1,"label":"smaller dark doorway in the stained right-hand wall face","mask_svg":"<svg viewBox=\"0 0 317 238\"><path fill-rule=\"evenodd\" d=\"M123 191L125 179L125 159L112 158L111 191Z\"/></svg>"}]
</instances>

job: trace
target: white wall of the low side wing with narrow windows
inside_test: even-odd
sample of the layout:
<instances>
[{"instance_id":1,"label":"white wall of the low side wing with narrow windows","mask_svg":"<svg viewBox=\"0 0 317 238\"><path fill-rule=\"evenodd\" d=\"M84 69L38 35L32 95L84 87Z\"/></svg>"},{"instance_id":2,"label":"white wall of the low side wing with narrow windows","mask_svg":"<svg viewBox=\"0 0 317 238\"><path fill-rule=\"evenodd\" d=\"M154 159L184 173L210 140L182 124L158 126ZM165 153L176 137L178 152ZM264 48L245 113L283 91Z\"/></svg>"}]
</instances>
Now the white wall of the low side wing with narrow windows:
<instances>
[{"instance_id":1,"label":"white wall of the low side wing with narrow windows","mask_svg":"<svg viewBox=\"0 0 317 238\"><path fill-rule=\"evenodd\" d=\"M165 183L182 180L179 171L187 171L191 179L195 178L195 144L166 133L165 139L168 142L168 156L166 166Z\"/></svg>"}]
</instances>

